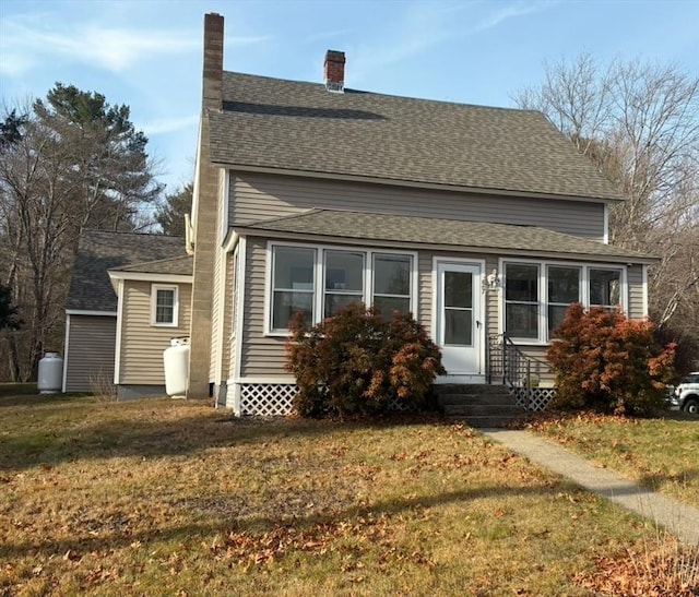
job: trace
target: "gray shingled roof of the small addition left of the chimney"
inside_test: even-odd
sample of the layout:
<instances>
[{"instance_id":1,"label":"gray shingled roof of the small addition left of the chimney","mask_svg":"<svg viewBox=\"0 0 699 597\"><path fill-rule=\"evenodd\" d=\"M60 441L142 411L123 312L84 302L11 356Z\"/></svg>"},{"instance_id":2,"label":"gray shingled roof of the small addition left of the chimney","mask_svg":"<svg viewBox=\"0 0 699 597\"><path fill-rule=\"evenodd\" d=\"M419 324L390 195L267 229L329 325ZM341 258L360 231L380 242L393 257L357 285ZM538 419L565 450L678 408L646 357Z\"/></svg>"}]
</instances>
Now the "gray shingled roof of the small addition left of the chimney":
<instances>
[{"instance_id":1,"label":"gray shingled roof of the small addition left of the chimney","mask_svg":"<svg viewBox=\"0 0 699 597\"><path fill-rule=\"evenodd\" d=\"M83 230L66 309L116 311L117 297L107 270L183 254L183 238Z\"/></svg>"}]
</instances>

